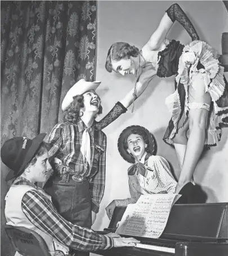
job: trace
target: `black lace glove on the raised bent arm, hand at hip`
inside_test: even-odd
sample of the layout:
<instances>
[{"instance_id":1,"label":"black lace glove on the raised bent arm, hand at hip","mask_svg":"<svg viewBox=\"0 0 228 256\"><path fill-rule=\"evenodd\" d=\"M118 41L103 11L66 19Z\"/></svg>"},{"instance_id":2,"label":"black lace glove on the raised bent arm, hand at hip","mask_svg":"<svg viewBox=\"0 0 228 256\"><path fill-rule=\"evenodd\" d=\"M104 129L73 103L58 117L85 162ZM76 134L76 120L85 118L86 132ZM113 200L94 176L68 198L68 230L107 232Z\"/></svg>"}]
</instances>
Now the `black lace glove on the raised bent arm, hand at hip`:
<instances>
[{"instance_id":1,"label":"black lace glove on the raised bent arm, hand at hip","mask_svg":"<svg viewBox=\"0 0 228 256\"><path fill-rule=\"evenodd\" d=\"M177 3L171 5L166 12L173 22L177 20L178 23L180 23L186 29L187 33L189 33L191 37L191 40L199 40L199 36L195 31L193 24Z\"/></svg>"}]
</instances>

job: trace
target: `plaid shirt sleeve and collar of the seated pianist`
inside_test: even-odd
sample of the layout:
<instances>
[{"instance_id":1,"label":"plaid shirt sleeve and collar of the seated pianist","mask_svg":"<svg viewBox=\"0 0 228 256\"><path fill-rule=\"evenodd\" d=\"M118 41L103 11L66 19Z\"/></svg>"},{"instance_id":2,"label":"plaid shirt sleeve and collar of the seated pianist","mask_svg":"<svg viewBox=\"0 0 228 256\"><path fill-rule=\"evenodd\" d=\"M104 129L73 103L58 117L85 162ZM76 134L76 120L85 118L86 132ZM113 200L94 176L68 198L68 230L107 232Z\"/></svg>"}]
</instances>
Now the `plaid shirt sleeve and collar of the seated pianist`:
<instances>
[{"instance_id":1,"label":"plaid shirt sleeve and collar of the seated pianist","mask_svg":"<svg viewBox=\"0 0 228 256\"><path fill-rule=\"evenodd\" d=\"M113 239L99 235L92 229L82 228L66 221L52 205L51 197L30 181L19 178L14 185L29 185L35 188L25 193L21 207L35 227L62 244L77 250L104 250L113 247Z\"/></svg>"}]
</instances>

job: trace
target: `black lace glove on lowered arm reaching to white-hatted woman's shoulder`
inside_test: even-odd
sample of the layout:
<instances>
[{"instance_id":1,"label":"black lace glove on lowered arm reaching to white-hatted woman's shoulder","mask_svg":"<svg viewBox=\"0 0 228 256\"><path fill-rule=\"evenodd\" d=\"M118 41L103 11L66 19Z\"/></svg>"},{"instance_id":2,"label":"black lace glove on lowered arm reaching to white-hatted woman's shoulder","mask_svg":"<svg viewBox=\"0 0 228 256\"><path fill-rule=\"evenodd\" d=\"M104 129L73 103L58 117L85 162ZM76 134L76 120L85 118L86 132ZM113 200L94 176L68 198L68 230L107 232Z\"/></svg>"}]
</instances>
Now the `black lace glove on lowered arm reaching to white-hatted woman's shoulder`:
<instances>
[{"instance_id":1,"label":"black lace glove on lowered arm reaching to white-hatted woman's shoulder","mask_svg":"<svg viewBox=\"0 0 228 256\"><path fill-rule=\"evenodd\" d=\"M126 107L122 105L119 101L115 104L113 109L109 111L109 113L102 118L99 122L96 123L96 128L99 130L104 129L110 123L113 123L115 119L117 119L120 115L127 111Z\"/></svg>"}]
</instances>

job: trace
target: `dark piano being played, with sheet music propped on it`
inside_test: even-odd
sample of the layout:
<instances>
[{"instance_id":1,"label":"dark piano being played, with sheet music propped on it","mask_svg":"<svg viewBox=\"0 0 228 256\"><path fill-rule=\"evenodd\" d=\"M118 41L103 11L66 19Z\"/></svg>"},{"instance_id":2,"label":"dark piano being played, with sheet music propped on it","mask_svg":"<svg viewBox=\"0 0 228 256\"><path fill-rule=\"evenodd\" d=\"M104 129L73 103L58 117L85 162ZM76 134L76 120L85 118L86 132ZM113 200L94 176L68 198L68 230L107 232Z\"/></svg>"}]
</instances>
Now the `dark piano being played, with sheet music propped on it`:
<instances>
[{"instance_id":1,"label":"dark piano being played, with sheet music propped on it","mask_svg":"<svg viewBox=\"0 0 228 256\"><path fill-rule=\"evenodd\" d=\"M108 228L115 232L126 207L115 207ZM127 237L127 236L125 236ZM96 251L104 256L228 256L228 203L173 205L162 236L135 237L137 247Z\"/></svg>"}]
</instances>

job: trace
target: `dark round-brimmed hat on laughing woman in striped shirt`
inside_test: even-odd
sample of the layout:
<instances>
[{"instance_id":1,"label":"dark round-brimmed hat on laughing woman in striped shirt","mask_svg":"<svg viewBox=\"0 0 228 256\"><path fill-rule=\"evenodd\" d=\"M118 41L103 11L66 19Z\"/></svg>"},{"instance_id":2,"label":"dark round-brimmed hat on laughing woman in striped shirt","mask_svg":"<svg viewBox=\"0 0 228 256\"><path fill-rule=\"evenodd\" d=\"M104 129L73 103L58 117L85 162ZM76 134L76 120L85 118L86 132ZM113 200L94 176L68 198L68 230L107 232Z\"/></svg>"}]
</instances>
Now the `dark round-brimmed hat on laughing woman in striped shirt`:
<instances>
[{"instance_id":1,"label":"dark round-brimmed hat on laughing woman in striped shirt","mask_svg":"<svg viewBox=\"0 0 228 256\"><path fill-rule=\"evenodd\" d=\"M147 137L149 139L149 144L147 147L149 149L149 153L151 153L152 155L154 153L154 147L155 147L154 138L153 138L152 134L146 128L144 128L140 125L128 126L127 128L125 128L123 130L122 133L120 133L120 136L118 138L118 150L119 150L119 154L121 155L121 157L129 163L135 163L135 159L133 157L131 157L131 155L129 155L127 153L127 151L124 149L123 141L125 138L127 138L132 133L133 129L140 129L140 130L146 132Z\"/></svg>"}]
</instances>

